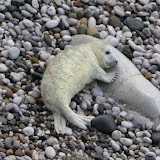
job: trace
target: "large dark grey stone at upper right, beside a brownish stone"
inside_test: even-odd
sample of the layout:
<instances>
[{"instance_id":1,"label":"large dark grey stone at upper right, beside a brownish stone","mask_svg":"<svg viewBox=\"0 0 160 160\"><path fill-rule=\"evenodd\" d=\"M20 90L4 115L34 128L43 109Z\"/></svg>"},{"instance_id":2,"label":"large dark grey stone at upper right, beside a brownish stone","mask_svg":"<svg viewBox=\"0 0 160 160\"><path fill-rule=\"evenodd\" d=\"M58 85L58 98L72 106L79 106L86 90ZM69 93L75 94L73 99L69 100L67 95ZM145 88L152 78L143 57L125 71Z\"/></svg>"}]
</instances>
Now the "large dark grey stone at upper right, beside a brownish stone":
<instances>
[{"instance_id":1,"label":"large dark grey stone at upper right, beside a brownish stone","mask_svg":"<svg viewBox=\"0 0 160 160\"><path fill-rule=\"evenodd\" d=\"M126 26L130 28L132 31L144 29L143 22L135 18L127 17L125 22L126 22Z\"/></svg>"}]
</instances>

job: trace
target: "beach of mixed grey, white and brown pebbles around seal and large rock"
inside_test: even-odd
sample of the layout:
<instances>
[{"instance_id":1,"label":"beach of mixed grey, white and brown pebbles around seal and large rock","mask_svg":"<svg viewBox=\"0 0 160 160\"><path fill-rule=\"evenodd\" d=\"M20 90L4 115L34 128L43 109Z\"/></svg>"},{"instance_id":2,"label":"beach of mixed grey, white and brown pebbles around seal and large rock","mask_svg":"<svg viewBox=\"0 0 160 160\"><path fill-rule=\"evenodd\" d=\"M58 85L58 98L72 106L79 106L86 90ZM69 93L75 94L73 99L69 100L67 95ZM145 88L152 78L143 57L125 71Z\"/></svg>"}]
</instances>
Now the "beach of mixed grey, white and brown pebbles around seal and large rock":
<instances>
[{"instance_id":1,"label":"beach of mixed grey, white and brown pebbles around seal and large rock","mask_svg":"<svg viewBox=\"0 0 160 160\"><path fill-rule=\"evenodd\" d=\"M70 107L88 130L54 130L40 84L72 36L106 40L160 89L160 0L0 0L0 160L160 160L160 124L133 123L97 85Z\"/></svg>"}]
</instances>

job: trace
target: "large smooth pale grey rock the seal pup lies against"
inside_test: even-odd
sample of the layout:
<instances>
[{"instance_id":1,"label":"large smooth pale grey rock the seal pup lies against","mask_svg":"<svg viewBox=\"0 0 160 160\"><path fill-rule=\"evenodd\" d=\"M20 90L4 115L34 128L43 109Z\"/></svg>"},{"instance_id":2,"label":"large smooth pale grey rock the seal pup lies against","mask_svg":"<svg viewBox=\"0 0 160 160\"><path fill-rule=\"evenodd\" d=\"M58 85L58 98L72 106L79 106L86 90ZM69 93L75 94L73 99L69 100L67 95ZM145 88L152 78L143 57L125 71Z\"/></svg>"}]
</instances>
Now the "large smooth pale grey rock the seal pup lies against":
<instances>
[{"instance_id":1,"label":"large smooth pale grey rock the seal pup lies against","mask_svg":"<svg viewBox=\"0 0 160 160\"><path fill-rule=\"evenodd\" d=\"M72 37L71 45L79 45L99 39L87 35ZM121 52L113 47L118 64L112 70L119 71L119 77L111 84L101 83L101 87L119 101L129 104L133 110L140 111L154 120L159 120L160 91L145 79L134 64ZM145 122L143 122L145 123Z\"/></svg>"}]
</instances>

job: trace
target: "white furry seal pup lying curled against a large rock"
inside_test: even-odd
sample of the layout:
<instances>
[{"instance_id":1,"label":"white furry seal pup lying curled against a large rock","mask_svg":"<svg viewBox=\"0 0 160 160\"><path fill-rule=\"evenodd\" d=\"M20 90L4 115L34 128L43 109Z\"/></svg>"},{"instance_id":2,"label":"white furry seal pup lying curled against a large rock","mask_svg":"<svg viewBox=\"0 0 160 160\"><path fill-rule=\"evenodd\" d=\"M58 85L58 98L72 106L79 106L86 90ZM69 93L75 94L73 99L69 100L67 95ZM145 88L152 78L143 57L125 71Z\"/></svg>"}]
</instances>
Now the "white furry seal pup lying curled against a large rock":
<instances>
[{"instance_id":1,"label":"white furry seal pup lying curled against a large rock","mask_svg":"<svg viewBox=\"0 0 160 160\"><path fill-rule=\"evenodd\" d=\"M117 64L111 47L103 41L74 46L49 63L41 82L41 95L46 107L53 112L58 134L65 133L65 119L81 129L90 125L94 117L76 114L69 104L71 98L93 80L111 83L117 78L117 71L106 73L103 70Z\"/></svg>"}]
</instances>

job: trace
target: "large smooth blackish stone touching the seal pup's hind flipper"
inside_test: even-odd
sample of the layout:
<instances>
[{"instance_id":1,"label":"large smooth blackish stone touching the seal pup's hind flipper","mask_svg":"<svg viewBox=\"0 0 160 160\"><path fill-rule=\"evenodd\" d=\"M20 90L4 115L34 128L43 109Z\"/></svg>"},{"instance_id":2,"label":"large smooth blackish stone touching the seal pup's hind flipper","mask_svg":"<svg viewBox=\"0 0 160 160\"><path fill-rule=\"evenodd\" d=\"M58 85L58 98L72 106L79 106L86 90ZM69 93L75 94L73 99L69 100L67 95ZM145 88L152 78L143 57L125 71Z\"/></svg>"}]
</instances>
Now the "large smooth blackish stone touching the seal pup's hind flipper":
<instances>
[{"instance_id":1,"label":"large smooth blackish stone touching the seal pup's hind flipper","mask_svg":"<svg viewBox=\"0 0 160 160\"><path fill-rule=\"evenodd\" d=\"M91 127L96 128L104 134L111 134L117 129L117 125L111 115L97 116L91 121Z\"/></svg>"}]
</instances>

